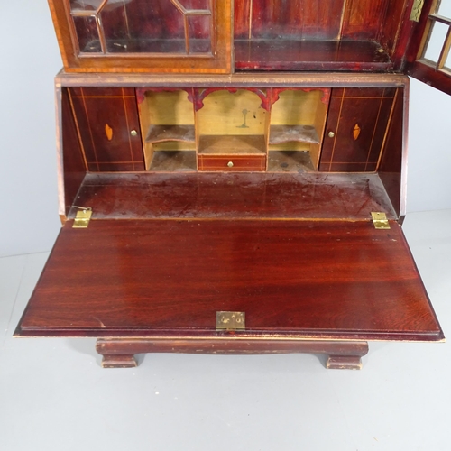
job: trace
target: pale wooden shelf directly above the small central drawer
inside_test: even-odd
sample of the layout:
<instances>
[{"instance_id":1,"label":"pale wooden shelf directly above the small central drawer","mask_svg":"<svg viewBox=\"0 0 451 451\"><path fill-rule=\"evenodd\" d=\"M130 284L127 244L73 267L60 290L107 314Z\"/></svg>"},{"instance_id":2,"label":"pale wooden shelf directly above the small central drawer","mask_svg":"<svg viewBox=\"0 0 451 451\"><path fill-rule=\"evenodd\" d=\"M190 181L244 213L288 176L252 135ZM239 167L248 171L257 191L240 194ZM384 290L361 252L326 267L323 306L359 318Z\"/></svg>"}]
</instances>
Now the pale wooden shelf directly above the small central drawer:
<instances>
[{"instance_id":1,"label":"pale wooden shelf directly above the small central drawer","mask_svg":"<svg viewBox=\"0 0 451 451\"><path fill-rule=\"evenodd\" d=\"M199 138L198 153L212 155L265 154L262 134L204 134Z\"/></svg>"}]
</instances>

